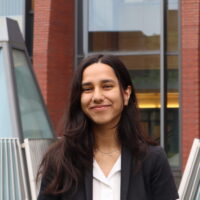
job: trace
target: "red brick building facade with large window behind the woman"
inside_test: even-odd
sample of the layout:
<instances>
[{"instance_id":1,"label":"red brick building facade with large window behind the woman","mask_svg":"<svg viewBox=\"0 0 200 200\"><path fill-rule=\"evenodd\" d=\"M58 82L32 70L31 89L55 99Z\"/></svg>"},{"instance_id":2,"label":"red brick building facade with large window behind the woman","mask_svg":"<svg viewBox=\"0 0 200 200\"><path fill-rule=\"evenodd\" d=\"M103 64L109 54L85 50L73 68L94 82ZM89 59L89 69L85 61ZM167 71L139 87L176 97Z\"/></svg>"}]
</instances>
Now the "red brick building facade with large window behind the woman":
<instances>
[{"instance_id":1,"label":"red brick building facade with large window behind the woman","mask_svg":"<svg viewBox=\"0 0 200 200\"><path fill-rule=\"evenodd\" d=\"M200 138L199 7L200 0L32 1L34 70L54 129L80 60L114 54L131 74L145 133L183 170Z\"/></svg>"}]
</instances>

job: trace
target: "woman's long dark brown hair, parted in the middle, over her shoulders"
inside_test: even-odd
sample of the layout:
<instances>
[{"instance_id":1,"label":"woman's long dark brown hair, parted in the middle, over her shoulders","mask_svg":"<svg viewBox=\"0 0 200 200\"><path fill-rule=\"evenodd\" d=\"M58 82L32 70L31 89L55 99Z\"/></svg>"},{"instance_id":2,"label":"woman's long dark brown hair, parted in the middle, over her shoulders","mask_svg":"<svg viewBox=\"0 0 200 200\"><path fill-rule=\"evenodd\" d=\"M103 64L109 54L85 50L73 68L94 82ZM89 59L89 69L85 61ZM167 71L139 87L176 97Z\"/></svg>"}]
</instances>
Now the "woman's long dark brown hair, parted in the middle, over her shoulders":
<instances>
[{"instance_id":1,"label":"woman's long dark brown hair, parted in the middle, over her shoulders","mask_svg":"<svg viewBox=\"0 0 200 200\"><path fill-rule=\"evenodd\" d=\"M148 141L142 134L135 90L126 67L113 55L89 56L80 63L74 73L63 136L49 149L40 165L38 174L42 174L43 177L48 174L50 177L46 193L71 191L83 181L86 169L92 170L92 122L82 111L80 99L83 71L97 62L107 64L114 70L122 90L128 86L132 90L128 105L124 106L117 126L121 145L131 151L138 163L146 152Z\"/></svg>"}]
</instances>

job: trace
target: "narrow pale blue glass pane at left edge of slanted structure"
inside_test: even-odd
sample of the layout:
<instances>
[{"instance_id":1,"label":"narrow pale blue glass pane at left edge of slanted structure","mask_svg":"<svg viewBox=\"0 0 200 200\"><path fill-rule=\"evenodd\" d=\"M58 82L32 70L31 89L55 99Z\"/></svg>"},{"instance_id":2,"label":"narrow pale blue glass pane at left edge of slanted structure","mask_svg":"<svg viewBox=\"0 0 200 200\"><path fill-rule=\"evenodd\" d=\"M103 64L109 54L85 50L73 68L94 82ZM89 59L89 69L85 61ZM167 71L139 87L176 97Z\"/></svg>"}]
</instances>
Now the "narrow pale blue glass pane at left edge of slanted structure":
<instances>
[{"instance_id":1,"label":"narrow pale blue glass pane at left edge of slanted structure","mask_svg":"<svg viewBox=\"0 0 200 200\"><path fill-rule=\"evenodd\" d=\"M0 138L14 137L5 67L8 66L4 64L3 51L0 48Z\"/></svg>"}]
</instances>

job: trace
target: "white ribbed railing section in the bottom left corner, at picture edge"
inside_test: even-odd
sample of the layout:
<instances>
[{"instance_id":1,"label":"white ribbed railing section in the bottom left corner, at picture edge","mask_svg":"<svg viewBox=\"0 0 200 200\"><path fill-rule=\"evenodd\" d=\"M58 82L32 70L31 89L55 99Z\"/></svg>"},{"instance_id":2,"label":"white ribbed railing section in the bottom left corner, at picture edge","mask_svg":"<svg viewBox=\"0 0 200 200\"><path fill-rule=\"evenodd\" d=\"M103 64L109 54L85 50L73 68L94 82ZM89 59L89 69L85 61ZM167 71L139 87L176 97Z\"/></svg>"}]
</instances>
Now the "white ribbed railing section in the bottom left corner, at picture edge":
<instances>
[{"instance_id":1,"label":"white ribbed railing section in the bottom left corner, at picture edge","mask_svg":"<svg viewBox=\"0 0 200 200\"><path fill-rule=\"evenodd\" d=\"M28 200L19 139L0 139L0 200Z\"/></svg>"}]
</instances>

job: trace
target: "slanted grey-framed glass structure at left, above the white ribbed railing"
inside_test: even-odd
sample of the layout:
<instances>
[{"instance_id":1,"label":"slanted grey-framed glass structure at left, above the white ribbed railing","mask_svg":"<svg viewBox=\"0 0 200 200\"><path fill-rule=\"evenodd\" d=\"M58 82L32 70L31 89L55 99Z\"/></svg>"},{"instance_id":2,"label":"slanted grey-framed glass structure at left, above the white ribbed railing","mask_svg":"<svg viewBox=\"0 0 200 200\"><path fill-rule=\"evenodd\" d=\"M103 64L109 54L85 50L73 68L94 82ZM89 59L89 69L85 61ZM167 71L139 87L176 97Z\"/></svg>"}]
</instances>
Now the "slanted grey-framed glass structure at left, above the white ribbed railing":
<instances>
[{"instance_id":1,"label":"slanted grey-framed glass structure at left, above the white ribbed railing","mask_svg":"<svg viewBox=\"0 0 200 200\"><path fill-rule=\"evenodd\" d=\"M17 23L0 19L0 138L53 138Z\"/></svg>"}]
</instances>

